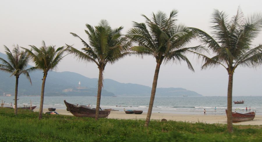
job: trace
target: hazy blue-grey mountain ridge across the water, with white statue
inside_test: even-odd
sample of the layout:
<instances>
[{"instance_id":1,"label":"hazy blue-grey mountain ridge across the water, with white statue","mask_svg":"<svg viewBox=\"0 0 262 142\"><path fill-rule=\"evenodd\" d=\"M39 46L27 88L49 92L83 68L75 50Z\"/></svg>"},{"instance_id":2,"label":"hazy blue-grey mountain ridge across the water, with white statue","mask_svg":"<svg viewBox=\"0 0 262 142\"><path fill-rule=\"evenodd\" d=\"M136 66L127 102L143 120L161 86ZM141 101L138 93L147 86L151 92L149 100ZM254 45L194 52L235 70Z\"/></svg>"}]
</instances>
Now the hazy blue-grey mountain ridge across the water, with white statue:
<instances>
[{"instance_id":1,"label":"hazy blue-grey mountain ridge across the water, with white statue","mask_svg":"<svg viewBox=\"0 0 262 142\"><path fill-rule=\"evenodd\" d=\"M0 53L0 57L6 59L6 55ZM32 85L24 75L19 78L18 96L40 95L42 86L42 71L35 71L30 74ZM78 82L81 82L81 86ZM97 95L97 78L87 78L73 72L55 72L50 71L47 75L45 84L45 96L96 96ZM14 95L15 77L9 73L0 71L0 95ZM104 89L102 96L149 96L151 87L132 84L120 83L111 79L104 79ZM194 91L183 88L157 88L157 96L202 96Z\"/></svg>"}]
</instances>

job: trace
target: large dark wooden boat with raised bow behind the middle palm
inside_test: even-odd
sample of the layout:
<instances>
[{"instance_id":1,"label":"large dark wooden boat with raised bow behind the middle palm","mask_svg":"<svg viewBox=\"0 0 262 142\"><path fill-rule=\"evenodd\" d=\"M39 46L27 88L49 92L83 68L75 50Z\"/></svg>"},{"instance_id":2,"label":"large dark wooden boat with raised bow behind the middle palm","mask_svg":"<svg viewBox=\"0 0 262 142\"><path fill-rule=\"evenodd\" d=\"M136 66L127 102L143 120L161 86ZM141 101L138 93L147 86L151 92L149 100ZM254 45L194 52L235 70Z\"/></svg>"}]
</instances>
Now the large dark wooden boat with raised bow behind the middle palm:
<instances>
[{"instance_id":1,"label":"large dark wooden boat with raised bow behind the middle palm","mask_svg":"<svg viewBox=\"0 0 262 142\"><path fill-rule=\"evenodd\" d=\"M65 100L65 106L69 109L69 111L77 117L93 117L95 118L95 109L91 109L85 105L73 105L67 103ZM110 114L110 111L99 110L98 118L106 118Z\"/></svg>"}]
</instances>

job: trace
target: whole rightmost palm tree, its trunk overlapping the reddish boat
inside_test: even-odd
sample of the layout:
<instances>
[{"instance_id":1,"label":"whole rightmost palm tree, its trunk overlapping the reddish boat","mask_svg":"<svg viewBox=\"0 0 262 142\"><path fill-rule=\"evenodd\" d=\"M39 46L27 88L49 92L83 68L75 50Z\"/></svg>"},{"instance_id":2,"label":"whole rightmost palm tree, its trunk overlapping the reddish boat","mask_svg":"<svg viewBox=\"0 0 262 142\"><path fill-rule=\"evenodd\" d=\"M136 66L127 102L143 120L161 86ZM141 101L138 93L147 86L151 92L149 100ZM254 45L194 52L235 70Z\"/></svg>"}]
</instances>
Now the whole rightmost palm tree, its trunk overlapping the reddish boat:
<instances>
[{"instance_id":1,"label":"whole rightmost palm tree, its trunk overlapping the reddish boat","mask_svg":"<svg viewBox=\"0 0 262 142\"><path fill-rule=\"evenodd\" d=\"M202 69L222 65L228 75L227 128L233 132L232 125L232 86L233 74L238 66L256 67L262 64L262 45L252 48L252 41L262 29L262 15L244 17L240 8L237 14L228 19L225 12L214 10L212 15L213 37L197 28L192 28L200 40L214 53L214 57L203 57Z\"/></svg>"}]
</instances>

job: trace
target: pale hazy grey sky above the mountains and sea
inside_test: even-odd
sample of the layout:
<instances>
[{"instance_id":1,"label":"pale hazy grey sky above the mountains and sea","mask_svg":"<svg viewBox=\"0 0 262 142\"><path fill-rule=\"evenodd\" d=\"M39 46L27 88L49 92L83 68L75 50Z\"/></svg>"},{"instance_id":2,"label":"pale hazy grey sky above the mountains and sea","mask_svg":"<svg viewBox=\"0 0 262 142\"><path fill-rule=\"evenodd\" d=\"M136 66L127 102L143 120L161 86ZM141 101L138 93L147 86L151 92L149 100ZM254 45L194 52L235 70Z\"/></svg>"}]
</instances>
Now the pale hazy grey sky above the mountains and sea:
<instances>
[{"instance_id":1,"label":"pale hazy grey sky above the mountains and sea","mask_svg":"<svg viewBox=\"0 0 262 142\"><path fill-rule=\"evenodd\" d=\"M252 0L219 0L219 1L65 1L65 0L1 0L0 1L0 52L3 46L11 48L13 44L29 48L30 45L47 45L57 47L74 44L82 48L79 39L70 32L78 34L84 40L85 24L97 25L101 19L109 21L111 27L124 26L123 33L132 27L132 21L144 22L141 14L151 17L158 10L167 14L172 9L179 11L178 21L190 27L200 28L210 33L210 17L214 9L225 11L230 17L236 15L238 6L245 15L261 12L262 1ZM262 44L262 35L254 45ZM192 45L197 45L192 42ZM228 85L227 71L218 67L200 70L201 62L189 55L195 72L185 63L161 65L157 87L182 87L196 91L204 96L226 96ZM31 64L33 65L33 64ZM104 77L123 83L137 83L152 87L155 71L153 57L126 57L114 65L107 65ZM98 68L92 63L78 62L71 56L59 64L58 71L80 73L88 78L98 78ZM233 78L233 96L261 96L262 69L238 67ZM48 78L47 78L48 79ZM78 82L76 82L77 85Z\"/></svg>"}]
</instances>

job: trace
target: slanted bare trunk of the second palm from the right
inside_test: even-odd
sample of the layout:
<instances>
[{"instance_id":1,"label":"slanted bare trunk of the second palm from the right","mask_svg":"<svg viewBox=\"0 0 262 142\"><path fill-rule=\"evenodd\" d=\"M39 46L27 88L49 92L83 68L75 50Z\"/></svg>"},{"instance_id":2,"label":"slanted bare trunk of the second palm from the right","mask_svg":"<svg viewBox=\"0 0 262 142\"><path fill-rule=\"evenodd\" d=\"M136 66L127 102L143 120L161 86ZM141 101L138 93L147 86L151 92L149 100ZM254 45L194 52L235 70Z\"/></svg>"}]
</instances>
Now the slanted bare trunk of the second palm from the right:
<instances>
[{"instance_id":1,"label":"slanted bare trunk of the second palm from the right","mask_svg":"<svg viewBox=\"0 0 262 142\"><path fill-rule=\"evenodd\" d=\"M155 99L155 91L156 91L156 87L157 87L157 79L158 79L159 69L160 69L160 64L157 63L157 65L155 67L155 75L154 75L154 80L153 80L153 85L152 85L152 90L151 90L151 97L150 97L148 112L147 112L147 116L146 116L145 127L148 127L149 121L150 121L150 117L151 117L151 114L152 114L152 109L153 109L153 104L154 104L154 99Z\"/></svg>"}]
</instances>

